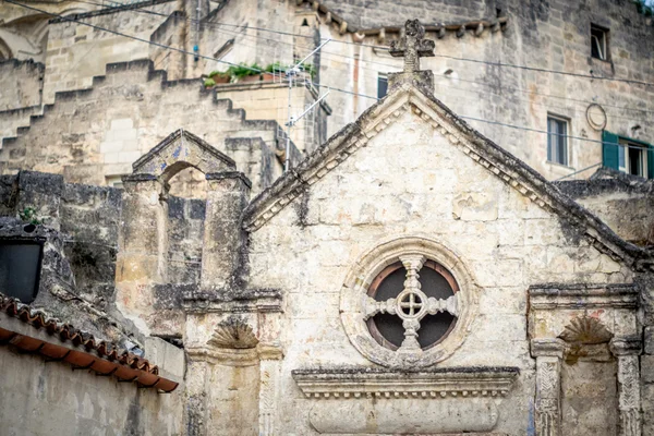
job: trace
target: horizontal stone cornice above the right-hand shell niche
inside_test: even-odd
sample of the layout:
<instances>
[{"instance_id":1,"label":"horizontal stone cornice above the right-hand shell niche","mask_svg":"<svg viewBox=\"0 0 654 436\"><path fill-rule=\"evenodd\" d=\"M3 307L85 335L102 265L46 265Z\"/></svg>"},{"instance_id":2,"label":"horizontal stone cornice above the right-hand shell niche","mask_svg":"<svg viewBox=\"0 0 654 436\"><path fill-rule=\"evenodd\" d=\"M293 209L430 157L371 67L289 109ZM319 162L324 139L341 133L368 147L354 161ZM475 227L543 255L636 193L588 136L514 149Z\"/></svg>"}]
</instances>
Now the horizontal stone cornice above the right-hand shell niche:
<instances>
[{"instance_id":1,"label":"horizontal stone cornice above the right-hand shell niche","mask_svg":"<svg viewBox=\"0 0 654 436\"><path fill-rule=\"evenodd\" d=\"M531 310L637 308L634 284L536 284L529 289Z\"/></svg>"}]
</instances>

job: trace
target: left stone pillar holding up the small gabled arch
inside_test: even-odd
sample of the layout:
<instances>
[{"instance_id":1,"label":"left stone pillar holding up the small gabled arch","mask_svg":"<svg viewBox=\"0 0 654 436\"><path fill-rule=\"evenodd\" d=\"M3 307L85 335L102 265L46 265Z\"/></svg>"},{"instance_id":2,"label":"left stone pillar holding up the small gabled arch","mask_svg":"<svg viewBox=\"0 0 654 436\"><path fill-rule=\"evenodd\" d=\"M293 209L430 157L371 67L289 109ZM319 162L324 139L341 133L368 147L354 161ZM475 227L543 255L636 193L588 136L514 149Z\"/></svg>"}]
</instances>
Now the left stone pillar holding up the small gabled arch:
<instances>
[{"instance_id":1,"label":"left stone pillar holding up the small gabled arch","mask_svg":"<svg viewBox=\"0 0 654 436\"><path fill-rule=\"evenodd\" d=\"M147 325L153 284L167 279L168 203L164 183L152 174L123 177L124 193L116 262L117 301L124 315ZM149 330L149 326L140 327Z\"/></svg>"}]
</instances>

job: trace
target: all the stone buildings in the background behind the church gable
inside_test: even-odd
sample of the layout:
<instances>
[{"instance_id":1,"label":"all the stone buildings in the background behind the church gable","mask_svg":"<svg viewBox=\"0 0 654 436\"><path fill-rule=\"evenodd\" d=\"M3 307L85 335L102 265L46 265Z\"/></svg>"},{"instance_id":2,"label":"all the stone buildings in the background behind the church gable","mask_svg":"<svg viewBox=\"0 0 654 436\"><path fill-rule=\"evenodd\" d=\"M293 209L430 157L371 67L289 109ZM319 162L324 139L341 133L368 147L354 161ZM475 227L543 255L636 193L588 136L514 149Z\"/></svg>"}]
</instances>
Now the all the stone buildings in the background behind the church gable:
<instances>
[{"instance_id":1,"label":"all the stone buildings in the background behind the church gable","mask_svg":"<svg viewBox=\"0 0 654 436\"><path fill-rule=\"evenodd\" d=\"M32 9L4 2L0 23L4 173L32 169L112 185L136 156L181 128L239 164L262 166L254 155L275 153L276 178L286 159L284 68L332 39L291 89L296 116L331 88L291 130L292 148L311 153L386 93L388 74L401 69L387 48L413 16L436 41L425 61L435 95L546 179L586 179L602 166L644 178L654 171L654 28L632 2L24 4ZM203 89L203 74L239 63L277 75ZM231 137L263 142L232 149ZM205 187L197 173L178 180ZM254 183L255 192L267 186Z\"/></svg>"}]
</instances>

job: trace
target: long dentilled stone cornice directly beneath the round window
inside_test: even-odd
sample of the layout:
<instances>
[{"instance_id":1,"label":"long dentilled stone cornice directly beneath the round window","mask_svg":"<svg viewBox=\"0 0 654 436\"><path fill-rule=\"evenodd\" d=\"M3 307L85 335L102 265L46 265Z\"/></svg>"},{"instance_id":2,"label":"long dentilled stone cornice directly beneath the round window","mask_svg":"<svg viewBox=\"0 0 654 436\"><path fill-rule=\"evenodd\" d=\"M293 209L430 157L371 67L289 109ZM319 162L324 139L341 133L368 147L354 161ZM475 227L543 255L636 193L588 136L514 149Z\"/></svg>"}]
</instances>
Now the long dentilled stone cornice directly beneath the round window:
<instances>
[{"instance_id":1,"label":"long dentilled stone cornice directly beneath the round window","mask_svg":"<svg viewBox=\"0 0 654 436\"><path fill-rule=\"evenodd\" d=\"M425 372L375 368L294 370L293 379L307 398L505 397L518 378L517 367L451 367Z\"/></svg>"}]
</instances>

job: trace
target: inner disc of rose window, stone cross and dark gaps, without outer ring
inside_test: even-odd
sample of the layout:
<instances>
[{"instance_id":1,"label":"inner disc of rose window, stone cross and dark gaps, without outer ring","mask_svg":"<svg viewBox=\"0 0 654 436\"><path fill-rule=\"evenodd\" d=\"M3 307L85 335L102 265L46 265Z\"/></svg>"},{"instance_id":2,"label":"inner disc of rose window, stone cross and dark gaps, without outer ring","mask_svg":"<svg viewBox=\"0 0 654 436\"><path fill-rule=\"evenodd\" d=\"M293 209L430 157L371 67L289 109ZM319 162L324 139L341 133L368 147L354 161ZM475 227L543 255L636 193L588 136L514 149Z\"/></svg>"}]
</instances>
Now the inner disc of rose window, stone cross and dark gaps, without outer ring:
<instances>
[{"instance_id":1,"label":"inner disc of rose window, stone cross and dark gaps, without outer ring","mask_svg":"<svg viewBox=\"0 0 654 436\"><path fill-rule=\"evenodd\" d=\"M428 350L455 328L459 287L440 264L403 256L368 288L366 323L373 338L393 351Z\"/></svg>"}]
</instances>

